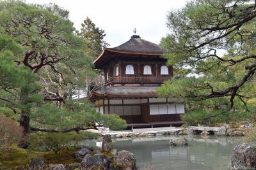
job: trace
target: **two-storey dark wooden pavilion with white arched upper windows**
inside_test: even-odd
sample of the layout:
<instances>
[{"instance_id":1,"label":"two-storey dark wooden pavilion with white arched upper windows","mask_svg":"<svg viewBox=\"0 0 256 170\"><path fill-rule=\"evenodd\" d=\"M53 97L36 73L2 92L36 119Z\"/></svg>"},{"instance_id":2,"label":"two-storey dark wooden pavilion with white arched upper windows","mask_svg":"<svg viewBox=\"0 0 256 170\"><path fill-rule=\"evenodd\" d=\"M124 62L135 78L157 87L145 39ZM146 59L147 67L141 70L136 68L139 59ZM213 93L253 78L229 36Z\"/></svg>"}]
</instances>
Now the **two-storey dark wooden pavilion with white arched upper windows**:
<instances>
[{"instance_id":1,"label":"two-storey dark wooden pavilion with white arched upper windows","mask_svg":"<svg viewBox=\"0 0 256 170\"><path fill-rule=\"evenodd\" d=\"M128 126L181 125L184 103L161 98L156 90L172 78L173 67L166 66L163 50L138 35L115 48L103 48L93 62L104 71L103 83L96 85L89 99L102 114L116 114Z\"/></svg>"}]
</instances>

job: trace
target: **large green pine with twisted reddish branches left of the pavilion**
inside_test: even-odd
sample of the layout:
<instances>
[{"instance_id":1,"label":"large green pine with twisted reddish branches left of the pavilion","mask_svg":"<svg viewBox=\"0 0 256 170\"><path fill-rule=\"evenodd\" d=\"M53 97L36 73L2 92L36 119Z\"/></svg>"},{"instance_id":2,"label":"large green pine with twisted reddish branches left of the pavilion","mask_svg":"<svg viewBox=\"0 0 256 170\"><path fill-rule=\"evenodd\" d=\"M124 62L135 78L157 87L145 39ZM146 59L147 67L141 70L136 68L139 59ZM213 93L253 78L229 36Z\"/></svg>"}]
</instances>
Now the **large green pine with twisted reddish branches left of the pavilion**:
<instances>
[{"instance_id":1,"label":"large green pine with twisted reddish branches left of the pavilion","mask_svg":"<svg viewBox=\"0 0 256 170\"><path fill-rule=\"evenodd\" d=\"M86 42L74 32L68 11L55 4L0 2L1 112L10 108L19 114L25 136L97 129L95 122L113 129L126 125L119 117L100 115L86 101L69 99L70 90L92 72Z\"/></svg>"}]
</instances>

